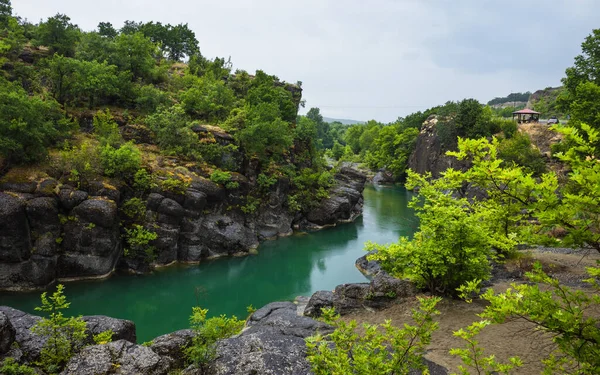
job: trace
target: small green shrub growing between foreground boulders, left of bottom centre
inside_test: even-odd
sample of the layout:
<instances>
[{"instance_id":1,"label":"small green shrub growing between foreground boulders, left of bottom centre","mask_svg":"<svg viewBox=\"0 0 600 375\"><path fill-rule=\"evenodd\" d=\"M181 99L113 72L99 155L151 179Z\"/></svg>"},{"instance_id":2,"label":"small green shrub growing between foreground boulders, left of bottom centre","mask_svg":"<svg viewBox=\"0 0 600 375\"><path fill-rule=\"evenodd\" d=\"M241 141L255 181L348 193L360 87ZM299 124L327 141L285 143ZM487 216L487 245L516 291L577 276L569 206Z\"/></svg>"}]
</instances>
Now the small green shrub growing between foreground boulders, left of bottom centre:
<instances>
[{"instance_id":1,"label":"small green shrub growing between foreground boulders, left of bottom centre","mask_svg":"<svg viewBox=\"0 0 600 375\"><path fill-rule=\"evenodd\" d=\"M192 307L190 325L194 331L192 343L184 349L187 360L202 371L208 371L211 362L216 357L217 340L237 334L243 327L244 321L235 316L225 315L207 319L207 309Z\"/></svg>"}]
</instances>

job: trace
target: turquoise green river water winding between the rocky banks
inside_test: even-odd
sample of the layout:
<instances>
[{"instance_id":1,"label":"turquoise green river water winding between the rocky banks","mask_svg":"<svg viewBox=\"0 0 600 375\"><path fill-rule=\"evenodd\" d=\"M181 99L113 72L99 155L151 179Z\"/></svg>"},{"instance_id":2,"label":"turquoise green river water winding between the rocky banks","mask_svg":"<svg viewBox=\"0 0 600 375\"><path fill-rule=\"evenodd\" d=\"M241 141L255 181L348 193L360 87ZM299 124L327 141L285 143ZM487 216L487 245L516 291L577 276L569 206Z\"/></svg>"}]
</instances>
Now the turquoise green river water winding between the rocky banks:
<instances>
[{"instance_id":1,"label":"turquoise green river water winding between the rocky banks","mask_svg":"<svg viewBox=\"0 0 600 375\"><path fill-rule=\"evenodd\" d=\"M267 241L258 255L223 258L194 266L169 267L151 275L113 276L65 285L73 315L108 315L136 323L138 342L188 327L192 306L209 314L245 317L246 306L293 300L317 290L361 282L354 261L364 243L395 242L416 225L407 208L410 193L400 187L367 186L363 216L309 234ZM30 313L39 293L0 294L0 305Z\"/></svg>"}]
</instances>

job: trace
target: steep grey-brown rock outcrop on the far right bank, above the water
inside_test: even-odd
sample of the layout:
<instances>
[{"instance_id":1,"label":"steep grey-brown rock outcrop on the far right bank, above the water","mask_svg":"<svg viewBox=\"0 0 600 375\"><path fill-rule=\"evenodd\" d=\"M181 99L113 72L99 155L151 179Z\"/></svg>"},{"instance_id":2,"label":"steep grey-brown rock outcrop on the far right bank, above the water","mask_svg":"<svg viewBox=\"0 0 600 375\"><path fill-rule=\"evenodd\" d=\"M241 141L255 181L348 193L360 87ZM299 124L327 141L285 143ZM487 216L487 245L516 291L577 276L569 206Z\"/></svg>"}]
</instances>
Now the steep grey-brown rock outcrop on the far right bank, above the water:
<instances>
[{"instance_id":1,"label":"steep grey-brown rock outcrop on the far right bank, above the water","mask_svg":"<svg viewBox=\"0 0 600 375\"><path fill-rule=\"evenodd\" d=\"M436 130L437 123L438 118L435 115L429 116L423 123L415 150L408 159L409 169L419 174L431 172L433 178L440 177L440 173L448 168L462 170L468 166L465 161L447 156L442 150L441 140Z\"/></svg>"}]
</instances>

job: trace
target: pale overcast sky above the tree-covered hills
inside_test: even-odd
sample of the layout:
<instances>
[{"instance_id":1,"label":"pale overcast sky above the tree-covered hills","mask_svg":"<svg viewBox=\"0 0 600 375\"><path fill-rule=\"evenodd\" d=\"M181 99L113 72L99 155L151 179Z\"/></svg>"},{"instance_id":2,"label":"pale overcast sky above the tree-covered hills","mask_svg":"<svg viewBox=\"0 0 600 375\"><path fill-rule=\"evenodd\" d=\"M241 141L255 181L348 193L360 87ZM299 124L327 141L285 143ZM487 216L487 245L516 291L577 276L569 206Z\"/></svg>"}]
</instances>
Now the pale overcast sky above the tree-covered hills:
<instances>
[{"instance_id":1,"label":"pale overcast sky above the tree-covered hills","mask_svg":"<svg viewBox=\"0 0 600 375\"><path fill-rule=\"evenodd\" d=\"M204 56L302 81L306 109L393 121L447 100L560 85L593 28L596 0L13 0L31 22L64 13L188 23Z\"/></svg>"}]
</instances>

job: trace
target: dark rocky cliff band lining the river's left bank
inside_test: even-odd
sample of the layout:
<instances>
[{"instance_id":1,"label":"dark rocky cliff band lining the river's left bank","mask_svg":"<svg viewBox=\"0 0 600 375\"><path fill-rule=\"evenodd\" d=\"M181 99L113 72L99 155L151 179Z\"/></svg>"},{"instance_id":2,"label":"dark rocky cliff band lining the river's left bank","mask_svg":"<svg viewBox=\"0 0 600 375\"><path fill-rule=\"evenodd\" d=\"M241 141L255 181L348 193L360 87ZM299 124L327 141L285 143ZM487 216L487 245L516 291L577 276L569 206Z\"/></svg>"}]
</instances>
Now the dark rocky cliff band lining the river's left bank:
<instances>
[{"instance_id":1,"label":"dark rocky cliff band lining the river's left bank","mask_svg":"<svg viewBox=\"0 0 600 375\"><path fill-rule=\"evenodd\" d=\"M241 175L240 175L241 176ZM157 234L149 264L123 257L123 191L94 182L85 190L45 177L0 184L0 290L42 289L56 280L99 278L115 268L145 272L153 265L198 262L247 254L260 240L296 229L316 229L356 218L365 176L349 168L335 174L329 197L301 213L287 207L289 181L271 187L267 204L240 209L248 182L223 186L188 174L179 193L155 188L143 202L144 225Z\"/></svg>"}]
</instances>

